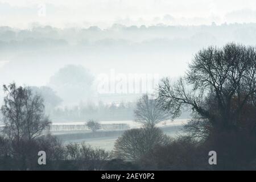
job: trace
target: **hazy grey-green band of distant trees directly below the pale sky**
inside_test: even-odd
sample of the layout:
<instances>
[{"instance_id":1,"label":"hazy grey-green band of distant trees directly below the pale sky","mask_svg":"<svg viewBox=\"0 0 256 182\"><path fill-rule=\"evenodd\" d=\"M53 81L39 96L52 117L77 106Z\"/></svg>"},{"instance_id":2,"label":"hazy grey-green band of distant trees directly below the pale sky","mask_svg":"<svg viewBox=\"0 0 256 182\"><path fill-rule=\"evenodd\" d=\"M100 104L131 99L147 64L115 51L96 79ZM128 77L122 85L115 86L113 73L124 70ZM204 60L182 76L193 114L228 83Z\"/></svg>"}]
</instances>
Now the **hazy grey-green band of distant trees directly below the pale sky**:
<instances>
[{"instance_id":1,"label":"hazy grey-green band of distant trees directly below the pale sky","mask_svg":"<svg viewBox=\"0 0 256 182\"><path fill-rule=\"evenodd\" d=\"M168 46L169 49L175 50L192 46L196 51L201 46L222 45L233 40L244 44L254 44L255 29L255 23L224 23L217 26L214 22L209 26L166 26L160 24L148 27L143 25L126 27L114 24L105 30L97 26L80 29L38 26L27 30L0 27L0 48L61 47L75 42L77 46L89 46L92 49L106 46L135 47L135 49L141 47L148 51L150 45L154 45L154 48L164 49L165 46Z\"/></svg>"}]
</instances>

